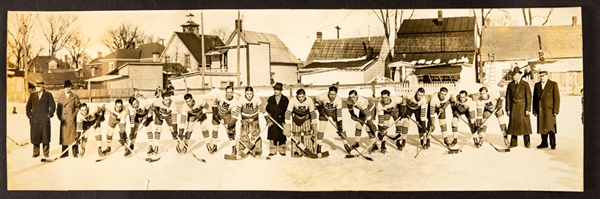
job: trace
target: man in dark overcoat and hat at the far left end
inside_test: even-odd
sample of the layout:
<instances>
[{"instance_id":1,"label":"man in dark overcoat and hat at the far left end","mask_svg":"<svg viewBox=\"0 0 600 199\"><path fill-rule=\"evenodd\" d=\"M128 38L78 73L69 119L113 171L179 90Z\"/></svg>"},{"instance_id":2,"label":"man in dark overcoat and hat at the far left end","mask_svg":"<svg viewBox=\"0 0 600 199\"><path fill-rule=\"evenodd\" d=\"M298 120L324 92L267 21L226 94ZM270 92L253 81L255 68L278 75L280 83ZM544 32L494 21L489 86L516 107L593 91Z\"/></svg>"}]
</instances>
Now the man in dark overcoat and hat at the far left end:
<instances>
[{"instance_id":1,"label":"man in dark overcoat and hat at the far left end","mask_svg":"<svg viewBox=\"0 0 600 199\"><path fill-rule=\"evenodd\" d=\"M35 91L29 96L25 112L29 118L29 136L33 144L33 156L40 155L40 143L43 145L44 157L50 154L50 118L54 117L54 97L44 90L44 82L35 83Z\"/></svg>"}]
</instances>

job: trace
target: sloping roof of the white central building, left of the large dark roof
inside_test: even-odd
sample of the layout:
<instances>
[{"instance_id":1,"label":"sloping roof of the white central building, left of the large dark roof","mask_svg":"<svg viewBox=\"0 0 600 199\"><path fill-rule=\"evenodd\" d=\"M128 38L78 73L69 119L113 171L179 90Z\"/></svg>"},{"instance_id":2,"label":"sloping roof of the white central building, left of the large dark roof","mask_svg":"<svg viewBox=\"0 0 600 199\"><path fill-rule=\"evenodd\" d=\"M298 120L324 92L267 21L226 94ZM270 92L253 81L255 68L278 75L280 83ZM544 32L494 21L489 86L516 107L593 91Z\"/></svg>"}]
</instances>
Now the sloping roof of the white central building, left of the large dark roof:
<instances>
[{"instance_id":1,"label":"sloping roof of the white central building, left of the large dark roof","mask_svg":"<svg viewBox=\"0 0 600 199\"><path fill-rule=\"evenodd\" d=\"M362 57L367 54L365 45L373 47L373 54L379 54L384 40L384 36L371 37L370 41L369 37L317 40L313 43L308 53L306 63L311 63L315 60L339 60Z\"/></svg>"}]
</instances>

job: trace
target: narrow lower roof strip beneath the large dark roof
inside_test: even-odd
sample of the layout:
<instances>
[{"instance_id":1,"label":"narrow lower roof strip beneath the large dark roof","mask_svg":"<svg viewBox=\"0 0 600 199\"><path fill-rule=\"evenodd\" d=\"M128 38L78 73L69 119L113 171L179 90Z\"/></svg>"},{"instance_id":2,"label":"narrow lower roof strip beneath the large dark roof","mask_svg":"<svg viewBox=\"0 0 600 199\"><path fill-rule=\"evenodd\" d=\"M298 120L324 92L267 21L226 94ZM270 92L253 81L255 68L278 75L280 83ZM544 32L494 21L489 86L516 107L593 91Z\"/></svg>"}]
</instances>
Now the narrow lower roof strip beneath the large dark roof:
<instances>
[{"instance_id":1,"label":"narrow lower roof strip beneath the large dark roof","mask_svg":"<svg viewBox=\"0 0 600 199\"><path fill-rule=\"evenodd\" d=\"M463 57L469 58L468 63L473 63L473 57L475 51L460 51L460 52L433 52L433 53L396 53L396 57L392 62L404 62L404 63L418 63L419 60L424 60L425 63L419 63L422 65L430 65L435 63L439 59L439 64L449 63L451 60L456 59L459 61ZM430 64L427 64L430 63Z\"/></svg>"}]
</instances>

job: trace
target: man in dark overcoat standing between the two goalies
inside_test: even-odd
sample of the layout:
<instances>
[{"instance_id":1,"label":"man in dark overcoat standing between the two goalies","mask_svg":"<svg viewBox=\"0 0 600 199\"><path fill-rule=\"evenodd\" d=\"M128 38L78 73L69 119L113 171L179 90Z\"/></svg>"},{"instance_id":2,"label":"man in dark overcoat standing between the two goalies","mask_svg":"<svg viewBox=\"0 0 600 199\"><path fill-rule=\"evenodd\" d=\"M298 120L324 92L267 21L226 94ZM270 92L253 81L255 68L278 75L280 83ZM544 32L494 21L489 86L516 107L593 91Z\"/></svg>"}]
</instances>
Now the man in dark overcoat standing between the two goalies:
<instances>
[{"instance_id":1,"label":"man in dark overcoat standing between the two goalies","mask_svg":"<svg viewBox=\"0 0 600 199\"><path fill-rule=\"evenodd\" d=\"M275 122L283 126L285 123L285 110L287 109L289 99L281 94L283 84L277 82L273 86L275 94L267 99L267 113L271 115ZM269 156L273 156L279 149L280 155L285 155L287 138L283 135L283 129L277 125L271 125L267 134L269 140Z\"/></svg>"}]
</instances>

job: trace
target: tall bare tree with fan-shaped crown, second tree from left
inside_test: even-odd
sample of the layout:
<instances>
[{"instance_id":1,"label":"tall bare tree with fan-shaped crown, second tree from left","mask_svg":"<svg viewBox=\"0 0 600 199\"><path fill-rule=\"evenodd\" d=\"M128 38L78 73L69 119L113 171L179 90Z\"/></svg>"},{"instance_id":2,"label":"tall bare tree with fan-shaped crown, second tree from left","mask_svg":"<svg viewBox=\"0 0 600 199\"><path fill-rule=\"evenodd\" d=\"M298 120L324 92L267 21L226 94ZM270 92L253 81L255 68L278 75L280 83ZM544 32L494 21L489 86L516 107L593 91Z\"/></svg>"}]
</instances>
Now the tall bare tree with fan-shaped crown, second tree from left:
<instances>
[{"instance_id":1,"label":"tall bare tree with fan-shaped crown, second tree from left","mask_svg":"<svg viewBox=\"0 0 600 199\"><path fill-rule=\"evenodd\" d=\"M44 38L49 43L49 54L55 56L56 52L65 47L65 45L73 38L73 33L77 29L77 15L49 14L45 20L40 21L40 27L44 33Z\"/></svg>"}]
</instances>

